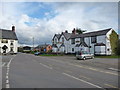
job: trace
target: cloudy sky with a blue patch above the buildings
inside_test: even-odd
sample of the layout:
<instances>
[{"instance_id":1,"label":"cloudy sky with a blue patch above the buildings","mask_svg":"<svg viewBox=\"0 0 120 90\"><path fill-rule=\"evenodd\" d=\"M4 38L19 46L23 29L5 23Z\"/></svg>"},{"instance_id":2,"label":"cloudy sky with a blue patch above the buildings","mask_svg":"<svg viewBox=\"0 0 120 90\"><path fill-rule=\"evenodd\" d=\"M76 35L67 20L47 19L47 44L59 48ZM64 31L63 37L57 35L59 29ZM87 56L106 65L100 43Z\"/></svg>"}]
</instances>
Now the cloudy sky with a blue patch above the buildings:
<instances>
[{"instance_id":1,"label":"cloudy sky with a blue patch above the buildings","mask_svg":"<svg viewBox=\"0 0 120 90\"><path fill-rule=\"evenodd\" d=\"M21 45L51 44L54 34L73 28L118 32L117 2L1 2L0 28L16 34Z\"/></svg>"}]
</instances>

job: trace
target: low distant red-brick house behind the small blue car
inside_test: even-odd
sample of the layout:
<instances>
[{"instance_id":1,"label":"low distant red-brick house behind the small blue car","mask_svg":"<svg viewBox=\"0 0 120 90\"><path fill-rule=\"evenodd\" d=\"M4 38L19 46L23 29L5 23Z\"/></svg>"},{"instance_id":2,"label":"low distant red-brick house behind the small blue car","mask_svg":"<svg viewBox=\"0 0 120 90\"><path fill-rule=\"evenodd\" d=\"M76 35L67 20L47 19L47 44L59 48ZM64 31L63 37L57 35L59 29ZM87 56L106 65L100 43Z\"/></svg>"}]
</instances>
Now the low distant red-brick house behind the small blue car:
<instances>
[{"instance_id":1,"label":"low distant red-brick house behind the small blue car","mask_svg":"<svg viewBox=\"0 0 120 90\"><path fill-rule=\"evenodd\" d=\"M52 46L49 44L42 44L35 47L34 50L40 51L40 52L49 52L50 50L52 50Z\"/></svg>"}]
</instances>

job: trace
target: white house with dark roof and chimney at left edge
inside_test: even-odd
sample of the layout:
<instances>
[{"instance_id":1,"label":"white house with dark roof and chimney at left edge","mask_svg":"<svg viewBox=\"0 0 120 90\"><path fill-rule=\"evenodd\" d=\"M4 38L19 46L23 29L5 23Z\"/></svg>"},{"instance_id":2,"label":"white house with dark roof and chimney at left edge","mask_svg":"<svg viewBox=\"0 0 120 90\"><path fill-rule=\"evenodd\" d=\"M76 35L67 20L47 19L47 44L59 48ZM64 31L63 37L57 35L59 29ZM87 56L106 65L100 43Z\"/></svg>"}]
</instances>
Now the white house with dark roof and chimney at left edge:
<instances>
[{"instance_id":1,"label":"white house with dark roof and chimney at left edge","mask_svg":"<svg viewBox=\"0 0 120 90\"><path fill-rule=\"evenodd\" d=\"M0 29L0 53L11 52L18 52L18 38L15 33L15 26L12 26L12 30Z\"/></svg>"}]
</instances>

